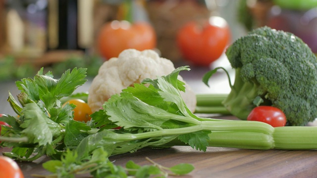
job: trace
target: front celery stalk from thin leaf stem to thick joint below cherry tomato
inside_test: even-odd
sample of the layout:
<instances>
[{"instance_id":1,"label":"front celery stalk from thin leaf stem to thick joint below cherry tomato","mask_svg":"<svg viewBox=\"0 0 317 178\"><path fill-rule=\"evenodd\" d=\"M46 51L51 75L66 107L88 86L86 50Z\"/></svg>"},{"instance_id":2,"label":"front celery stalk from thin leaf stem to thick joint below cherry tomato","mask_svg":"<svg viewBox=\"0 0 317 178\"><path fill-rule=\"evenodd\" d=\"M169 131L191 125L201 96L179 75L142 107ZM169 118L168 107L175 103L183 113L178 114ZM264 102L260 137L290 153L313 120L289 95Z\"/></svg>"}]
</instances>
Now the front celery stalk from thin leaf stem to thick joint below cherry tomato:
<instances>
[{"instance_id":1,"label":"front celery stalk from thin leaf stem to thick joint below cherry tomato","mask_svg":"<svg viewBox=\"0 0 317 178\"><path fill-rule=\"evenodd\" d=\"M274 147L274 128L262 122L253 121L203 121L200 125L177 129L164 129L140 134L119 134L120 141L141 140L151 137L190 134L198 131L211 131L209 146L271 149ZM175 140L177 141L177 139ZM169 142L164 146L186 145L182 142Z\"/></svg>"}]
</instances>

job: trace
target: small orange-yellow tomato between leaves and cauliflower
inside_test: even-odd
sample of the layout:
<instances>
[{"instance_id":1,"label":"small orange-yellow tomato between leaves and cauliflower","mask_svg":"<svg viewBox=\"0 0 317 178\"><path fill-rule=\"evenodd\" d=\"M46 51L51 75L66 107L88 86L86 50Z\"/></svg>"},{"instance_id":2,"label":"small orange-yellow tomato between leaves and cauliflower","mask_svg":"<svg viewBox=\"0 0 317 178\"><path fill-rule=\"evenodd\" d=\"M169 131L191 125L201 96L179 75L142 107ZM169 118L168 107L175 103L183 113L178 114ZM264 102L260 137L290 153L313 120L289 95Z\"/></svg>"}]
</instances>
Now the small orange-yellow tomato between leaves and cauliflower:
<instances>
[{"instance_id":1,"label":"small orange-yellow tomato between leaves and cauliflower","mask_svg":"<svg viewBox=\"0 0 317 178\"><path fill-rule=\"evenodd\" d=\"M93 113L89 105L81 100L81 99L70 99L69 101L65 102L69 104L74 104L76 105L74 111L74 120L75 121L90 121L91 117L90 115ZM64 104L64 105L65 105Z\"/></svg>"}]
</instances>

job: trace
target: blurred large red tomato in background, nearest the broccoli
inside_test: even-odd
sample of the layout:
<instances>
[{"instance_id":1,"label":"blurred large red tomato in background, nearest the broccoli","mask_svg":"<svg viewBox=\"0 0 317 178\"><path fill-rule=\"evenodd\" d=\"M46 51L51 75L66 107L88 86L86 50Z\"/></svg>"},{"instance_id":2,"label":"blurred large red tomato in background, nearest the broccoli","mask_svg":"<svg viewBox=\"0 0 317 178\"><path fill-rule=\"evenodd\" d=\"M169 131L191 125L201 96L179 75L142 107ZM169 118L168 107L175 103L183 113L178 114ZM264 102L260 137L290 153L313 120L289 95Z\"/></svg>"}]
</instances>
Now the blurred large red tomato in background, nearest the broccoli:
<instances>
[{"instance_id":1,"label":"blurred large red tomato in background, nearest the broccoli","mask_svg":"<svg viewBox=\"0 0 317 178\"><path fill-rule=\"evenodd\" d=\"M227 22L212 16L203 25L188 22L177 34L177 45L184 59L194 65L206 66L218 59L230 41Z\"/></svg>"}]
</instances>

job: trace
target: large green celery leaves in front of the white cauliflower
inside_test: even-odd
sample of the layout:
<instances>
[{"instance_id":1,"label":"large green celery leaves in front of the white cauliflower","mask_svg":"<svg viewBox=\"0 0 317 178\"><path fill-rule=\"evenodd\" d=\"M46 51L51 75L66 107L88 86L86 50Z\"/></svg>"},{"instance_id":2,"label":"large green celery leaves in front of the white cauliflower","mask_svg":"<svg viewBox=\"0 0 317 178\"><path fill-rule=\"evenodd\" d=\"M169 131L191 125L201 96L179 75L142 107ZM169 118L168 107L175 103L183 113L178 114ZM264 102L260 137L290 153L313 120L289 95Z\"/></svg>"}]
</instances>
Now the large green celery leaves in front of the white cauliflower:
<instances>
[{"instance_id":1,"label":"large green celery leaves in front of the white cauliflower","mask_svg":"<svg viewBox=\"0 0 317 178\"><path fill-rule=\"evenodd\" d=\"M158 76L155 80L146 79L141 84L123 89L120 94L112 95L104 103L105 112L98 111L99 114L92 115L92 123L98 120L105 125L122 127L116 133L104 133L103 140L99 140L104 142L115 138L111 145L114 147L106 149L109 153L133 152L146 146L160 146L177 137L193 148L206 150L210 132L203 131L200 127L202 119L189 111L180 95L180 90L185 90L184 83L177 79L182 70L189 68L180 67L167 76ZM145 84L150 86L145 87ZM101 116L105 118L104 122ZM97 124L101 125L99 122ZM196 135L200 136L199 139ZM89 144L87 142L85 146L79 146L87 148L108 144L100 142L89 141Z\"/></svg>"}]
</instances>

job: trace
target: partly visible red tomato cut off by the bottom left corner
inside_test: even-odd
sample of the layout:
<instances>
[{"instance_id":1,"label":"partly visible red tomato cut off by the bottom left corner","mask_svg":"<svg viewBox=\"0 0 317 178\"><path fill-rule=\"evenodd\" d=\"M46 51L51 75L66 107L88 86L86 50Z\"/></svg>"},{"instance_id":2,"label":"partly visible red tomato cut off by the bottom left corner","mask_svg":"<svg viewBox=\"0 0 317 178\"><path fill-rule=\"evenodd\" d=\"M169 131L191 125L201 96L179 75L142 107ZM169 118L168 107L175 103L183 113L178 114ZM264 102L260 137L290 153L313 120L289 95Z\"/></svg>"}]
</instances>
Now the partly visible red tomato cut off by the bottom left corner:
<instances>
[{"instance_id":1,"label":"partly visible red tomato cut off by the bottom left corner","mask_svg":"<svg viewBox=\"0 0 317 178\"><path fill-rule=\"evenodd\" d=\"M0 178L24 178L24 176L14 160L0 156Z\"/></svg>"}]
</instances>

